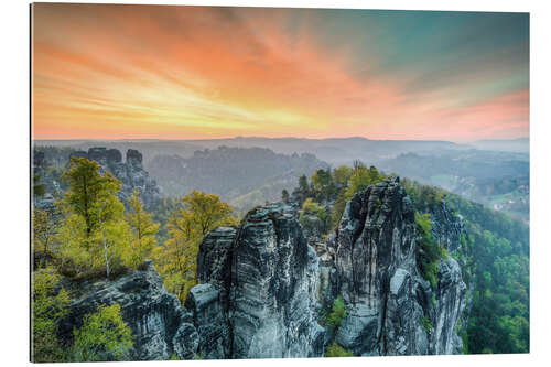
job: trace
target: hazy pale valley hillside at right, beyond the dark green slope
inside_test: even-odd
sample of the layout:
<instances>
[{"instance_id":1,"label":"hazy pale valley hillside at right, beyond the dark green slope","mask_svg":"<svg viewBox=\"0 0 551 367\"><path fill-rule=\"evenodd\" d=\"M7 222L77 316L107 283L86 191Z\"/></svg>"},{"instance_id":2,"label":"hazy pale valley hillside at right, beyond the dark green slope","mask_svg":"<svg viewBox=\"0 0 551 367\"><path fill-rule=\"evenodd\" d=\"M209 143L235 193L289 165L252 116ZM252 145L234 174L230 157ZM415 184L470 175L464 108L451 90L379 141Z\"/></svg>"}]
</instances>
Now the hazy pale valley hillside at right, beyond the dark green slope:
<instances>
[{"instance_id":1,"label":"hazy pale valley hillside at right, beyond the dark green slope","mask_svg":"<svg viewBox=\"0 0 551 367\"><path fill-rule=\"evenodd\" d=\"M530 216L529 155L483 150L443 150L400 154L380 162L423 184L442 187L528 223Z\"/></svg>"}]
</instances>

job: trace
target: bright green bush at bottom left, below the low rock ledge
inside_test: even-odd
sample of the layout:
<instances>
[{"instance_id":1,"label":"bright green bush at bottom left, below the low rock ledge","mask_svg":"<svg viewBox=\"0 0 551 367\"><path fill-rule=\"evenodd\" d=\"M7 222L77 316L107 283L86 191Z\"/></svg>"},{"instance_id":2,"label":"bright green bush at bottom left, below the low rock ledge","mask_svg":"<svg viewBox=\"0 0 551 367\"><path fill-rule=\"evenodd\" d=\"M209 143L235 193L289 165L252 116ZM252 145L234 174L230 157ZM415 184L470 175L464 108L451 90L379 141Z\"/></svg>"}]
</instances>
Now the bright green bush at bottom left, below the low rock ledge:
<instances>
[{"instance_id":1,"label":"bright green bush at bottom left, below the low rock ledge","mask_svg":"<svg viewBox=\"0 0 551 367\"><path fill-rule=\"evenodd\" d=\"M75 361L125 360L133 346L130 327L122 321L120 305L100 305L84 316L83 326L73 332Z\"/></svg>"}]
</instances>

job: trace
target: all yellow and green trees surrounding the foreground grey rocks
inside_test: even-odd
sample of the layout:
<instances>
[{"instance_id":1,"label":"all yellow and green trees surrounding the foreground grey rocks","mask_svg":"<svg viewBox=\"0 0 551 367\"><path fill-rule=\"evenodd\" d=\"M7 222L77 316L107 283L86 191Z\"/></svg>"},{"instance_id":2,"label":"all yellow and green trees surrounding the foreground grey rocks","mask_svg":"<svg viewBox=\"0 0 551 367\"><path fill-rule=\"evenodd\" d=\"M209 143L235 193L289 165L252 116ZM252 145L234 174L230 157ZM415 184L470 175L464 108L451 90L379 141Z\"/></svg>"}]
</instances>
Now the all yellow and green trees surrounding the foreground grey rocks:
<instances>
[{"instance_id":1,"label":"all yellow and green trees surrounding the foreground grey rocks","mask_svg":"<svg viewBox=\"0 0 551 367\"><path fill-rule=\"evenodd\" d=\"M121 182L96 161L73 156L57 169L63 195L33 209L33 358L36 361L125 360L132 347L120 306L86 315L73 338L58 337L72 292L83 281L117 279L153 259L166 290L184 303L197 284L198 245L217 226L237 227L239 215L218 195L190 191L147 208L134 190L122 203ZM281 191L295 203L305 233L325 238L338 226L346 203L369 185L393 176L359 161L353 166L317 169L296 187ZM37 199L46 187L34 177ZM464 353L529 352L529 230L522 222L442 188L402 179L415 207L419 271L432 287L441 259L454 256L468 288L468 310L458 334ZM429 214L445 202L465 223L461 250L450 255L431 235ZM335 303L328 323L338 327L346 311ZM428 325L429 327L430 325ZM332 344L326 356L349 350Z\"/></svg>"}]
</instances>

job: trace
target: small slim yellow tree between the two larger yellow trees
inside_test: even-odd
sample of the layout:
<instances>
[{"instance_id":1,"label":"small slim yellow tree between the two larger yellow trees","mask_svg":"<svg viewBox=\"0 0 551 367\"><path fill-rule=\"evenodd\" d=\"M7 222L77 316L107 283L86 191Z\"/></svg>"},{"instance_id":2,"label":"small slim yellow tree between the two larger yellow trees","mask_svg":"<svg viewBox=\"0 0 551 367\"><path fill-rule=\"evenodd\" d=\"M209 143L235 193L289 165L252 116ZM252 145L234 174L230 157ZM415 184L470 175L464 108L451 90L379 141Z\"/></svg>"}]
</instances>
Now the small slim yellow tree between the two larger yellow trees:
<instances>
[{"instance_id":1,"label":"small slim yellow tree between the two larger yellow trees","mask_svg":"<svg viewBox=\"0 0 551 367\"><path fill-rule=\"evenodd\" d=\"M160 224L153 222L152 215L144 211L138 190L134 190L128 199L128 206L129 211L125 214L125 219L131 233L129 263L132 268L137 268L151 257L156 246L155 235Z\"/></svg>"}]
</instances>

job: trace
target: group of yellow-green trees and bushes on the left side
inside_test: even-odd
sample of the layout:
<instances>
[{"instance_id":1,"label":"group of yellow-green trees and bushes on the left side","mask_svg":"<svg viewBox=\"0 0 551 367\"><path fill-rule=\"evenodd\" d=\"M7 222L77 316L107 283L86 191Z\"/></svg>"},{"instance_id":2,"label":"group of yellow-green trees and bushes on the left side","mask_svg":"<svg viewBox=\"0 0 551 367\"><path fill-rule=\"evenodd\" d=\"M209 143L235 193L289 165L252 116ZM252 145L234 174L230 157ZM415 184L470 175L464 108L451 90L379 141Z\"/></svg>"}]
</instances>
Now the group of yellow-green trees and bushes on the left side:
<instances>
[{"instance_id":1,"label":"group of yellow-green trees and bushes on the left side","mask_svg":"<svg viewBox=\"0 0 551 367\"><path fill-rule=\"evenodd\" d=\"M55 209L33 212L34 360L128 359L132 341L117 304L87 315L69 345L58 338L58 323L67 313L71 294L55 284L62 278L75 284L115 279L154 259L166 290L184 302L196 284L199 241L214 227L237 225L238 219L218 196L192 191L158 207L156 215L164 218L164 236L160 236L161 224L144 209L138 191L126 208L117 196L120 181L97 162L72 158L62 180L67 191ZM33 188L35 195L44 192L40 181Z\"/></svg>"}]
</instances>

